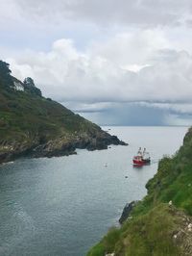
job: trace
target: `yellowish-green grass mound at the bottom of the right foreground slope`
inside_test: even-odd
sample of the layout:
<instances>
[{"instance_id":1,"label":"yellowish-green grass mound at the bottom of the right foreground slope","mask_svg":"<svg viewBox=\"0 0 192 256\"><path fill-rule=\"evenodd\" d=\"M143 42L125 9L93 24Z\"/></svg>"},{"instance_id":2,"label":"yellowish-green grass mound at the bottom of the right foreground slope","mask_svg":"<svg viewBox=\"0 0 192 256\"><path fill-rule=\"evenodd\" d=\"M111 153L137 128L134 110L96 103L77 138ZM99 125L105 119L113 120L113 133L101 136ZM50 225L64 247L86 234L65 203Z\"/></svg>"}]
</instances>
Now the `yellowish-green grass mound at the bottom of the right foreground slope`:
<instances>
[{"instance_id":1,"label":"yellowish-green grass mound at the bottom of the right foreground slope","mask_svg":"<svg viewBox=\"0 0 192 256\"><path fill-rule=\"evenodd\" d=\"M121 229L108 232L101 243L95 245L88 256L115 255L180 255L180 248L174 246L173 234L181 219L167 204L159 204L146 215L132 218Z\"/></svg>"}]
</instances>

